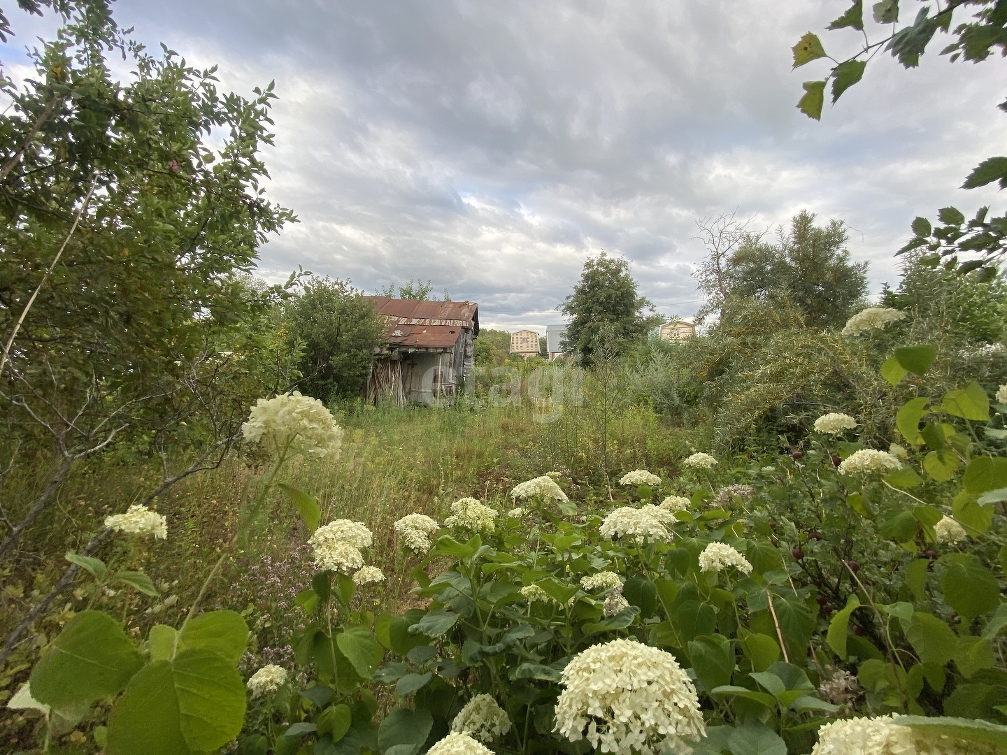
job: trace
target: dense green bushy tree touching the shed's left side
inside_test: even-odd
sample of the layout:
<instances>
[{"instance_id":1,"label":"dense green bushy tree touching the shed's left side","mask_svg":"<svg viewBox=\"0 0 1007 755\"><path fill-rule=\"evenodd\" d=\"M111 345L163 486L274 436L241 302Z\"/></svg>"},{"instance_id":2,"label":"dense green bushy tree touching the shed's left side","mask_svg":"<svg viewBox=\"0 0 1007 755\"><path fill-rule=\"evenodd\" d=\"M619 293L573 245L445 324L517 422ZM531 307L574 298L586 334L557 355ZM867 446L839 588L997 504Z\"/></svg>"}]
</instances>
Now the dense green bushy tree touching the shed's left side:
<instances>
[{"instance_id":1,"label":"dense green bushy tree touching the shed's left side","mask_svg":"<svg viewBox=\"0 0 1007 755\"><path fill-rule=\"evenodd\" d=\"M323 402L359 395L384 329L375 306L348 282L314 278L287 302L284 319L303 347L301 393Z\"/></svg>"}]
</instances>

